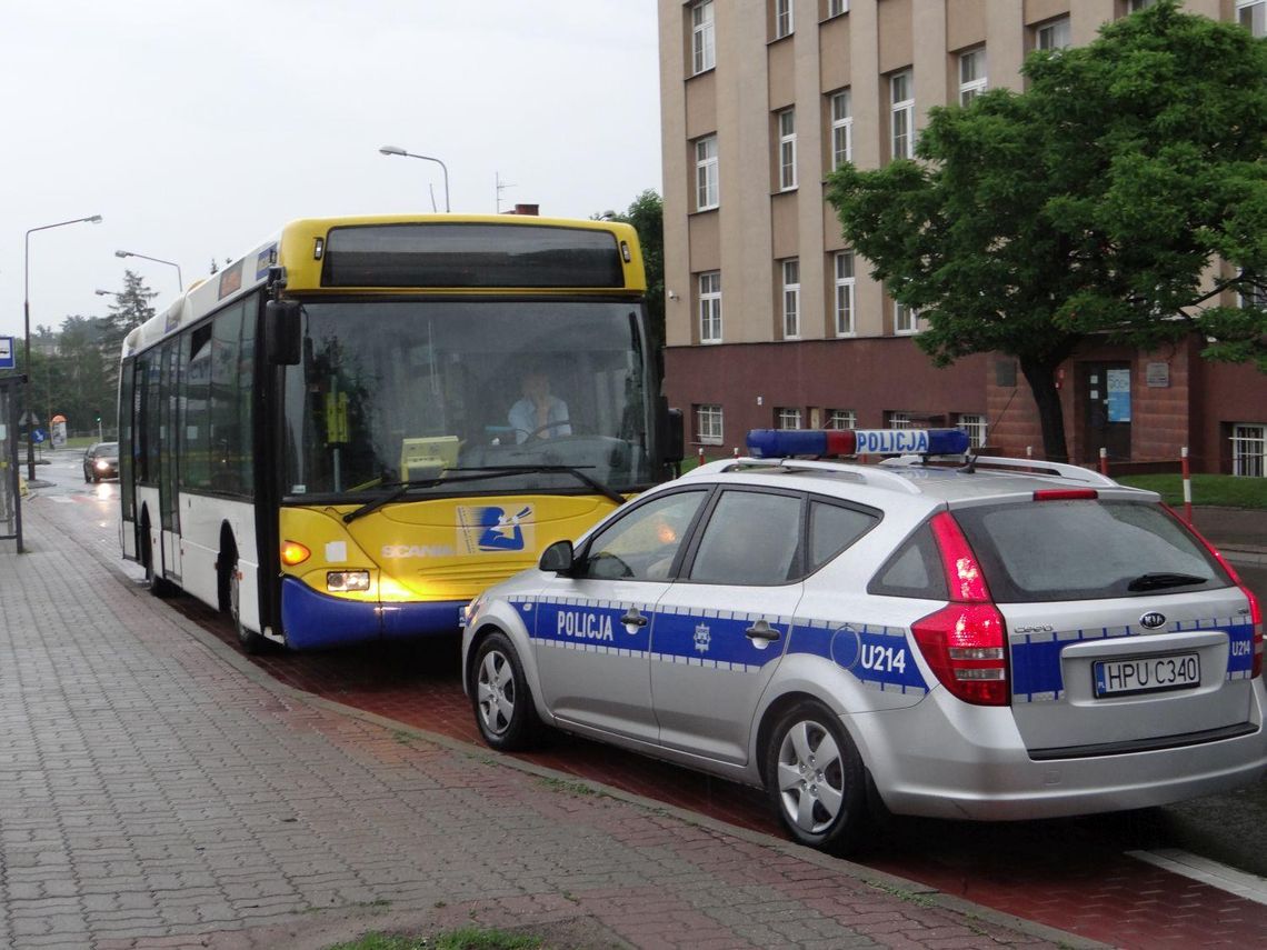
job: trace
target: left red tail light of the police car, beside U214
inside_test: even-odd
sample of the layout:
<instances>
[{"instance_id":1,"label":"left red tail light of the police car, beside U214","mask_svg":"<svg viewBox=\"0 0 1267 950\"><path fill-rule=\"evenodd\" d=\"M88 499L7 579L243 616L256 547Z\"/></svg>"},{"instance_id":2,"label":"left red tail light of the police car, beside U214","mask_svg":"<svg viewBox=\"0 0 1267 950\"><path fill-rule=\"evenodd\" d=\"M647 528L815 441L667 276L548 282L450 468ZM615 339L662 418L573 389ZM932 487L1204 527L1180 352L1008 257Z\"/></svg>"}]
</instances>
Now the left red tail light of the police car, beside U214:
<instances>
[{"instance_id":1,"label":"left red tail light of the police car, beside U214","mask_svg":"<svg viewBox=\"0 0 1267 950\"><path fill-rule=\"evenodd\" d=\"M950 603L911 624L915 642L938 681L965 703L1007 706L1007 636L1003 616L968 538L958 522L941 512L933 518L933 536L950 588Z\"/></svg>"}]
</instances>

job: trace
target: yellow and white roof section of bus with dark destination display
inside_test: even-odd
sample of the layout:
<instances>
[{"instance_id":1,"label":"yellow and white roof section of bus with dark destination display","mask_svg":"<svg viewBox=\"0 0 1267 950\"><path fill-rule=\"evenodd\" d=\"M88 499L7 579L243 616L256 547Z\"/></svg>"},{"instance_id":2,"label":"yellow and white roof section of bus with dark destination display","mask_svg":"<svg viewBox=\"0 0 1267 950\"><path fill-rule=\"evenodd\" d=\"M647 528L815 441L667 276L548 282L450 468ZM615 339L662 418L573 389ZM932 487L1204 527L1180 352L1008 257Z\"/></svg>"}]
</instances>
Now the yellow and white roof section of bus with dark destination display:
<instances>
[{"instance_id":1,"label":"yellow and white roof section of bus with dark destination display","mask_svg":"<svg viewBox=\"0 0 1267 950\"><path fill-rule=\"evenodd\" d=\"M284 293L296 296L646 293L637 232L623 222L523 214L302 218L133 328L123 356L265 285L272 267L284 269Z\"/></svg>"}]
</instances>

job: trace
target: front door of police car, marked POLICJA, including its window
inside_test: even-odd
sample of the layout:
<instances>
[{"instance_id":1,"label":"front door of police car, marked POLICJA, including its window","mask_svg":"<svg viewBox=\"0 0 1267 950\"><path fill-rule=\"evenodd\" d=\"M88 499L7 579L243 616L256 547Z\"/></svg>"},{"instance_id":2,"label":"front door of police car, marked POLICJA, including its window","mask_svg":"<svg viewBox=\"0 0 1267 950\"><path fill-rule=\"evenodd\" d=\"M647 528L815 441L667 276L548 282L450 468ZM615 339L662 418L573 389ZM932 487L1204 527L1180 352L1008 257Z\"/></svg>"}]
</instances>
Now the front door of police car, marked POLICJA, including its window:
<instances>
[{"instance_id":1,"label":"front door of police car, marked POLICJA, including its window","mask_svg":"<svg viewBox=\"0 0 1267 950\"><path fill-rule=\"evenodd\" d=\"M541 698L564 726L654 742L655 607L707 489L658 494L599 528L575 576L547 581L533 647Z\"/></svg>"}]
</instances>

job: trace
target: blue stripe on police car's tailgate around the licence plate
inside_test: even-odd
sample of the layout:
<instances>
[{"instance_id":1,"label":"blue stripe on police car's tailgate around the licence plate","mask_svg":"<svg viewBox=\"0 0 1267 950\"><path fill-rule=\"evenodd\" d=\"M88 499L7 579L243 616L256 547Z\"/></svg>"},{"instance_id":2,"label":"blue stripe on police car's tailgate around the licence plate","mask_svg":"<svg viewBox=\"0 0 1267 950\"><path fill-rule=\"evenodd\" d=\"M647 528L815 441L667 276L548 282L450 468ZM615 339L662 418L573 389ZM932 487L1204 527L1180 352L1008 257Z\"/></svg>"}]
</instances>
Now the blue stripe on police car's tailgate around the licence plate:
<instances>
[{"instance_id":1,"label":"blue stripe on police car's tailgate around the licence plate","mask_svg":"<svg viewBox=\"0 0 1267 950\"><path fill-rule=\"evenodd\" d=\"M1249 679L1254 661L1254 627L1238 617L1176 622L1164 630L1125 626L1014 633L1009 638L1012 647L1012 699L1019 703L1050 703L1062 699L1064 680L1060 675L1060 652L1069 643L1192 631L1226 633L1226 679Z\"/></svg>"}]
</instances>

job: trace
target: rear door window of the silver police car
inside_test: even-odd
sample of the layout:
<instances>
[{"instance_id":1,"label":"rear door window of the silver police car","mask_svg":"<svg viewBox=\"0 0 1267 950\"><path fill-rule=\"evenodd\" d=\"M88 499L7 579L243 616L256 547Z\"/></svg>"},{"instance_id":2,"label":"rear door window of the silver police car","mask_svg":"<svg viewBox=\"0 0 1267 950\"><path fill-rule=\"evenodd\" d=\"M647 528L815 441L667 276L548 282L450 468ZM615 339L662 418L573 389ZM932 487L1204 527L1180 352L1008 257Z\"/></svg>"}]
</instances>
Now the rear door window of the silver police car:
<instances>
[{"instance_id":1,"label":"rear door window of the silver police car","mask_svg":"<svg viewBox=\"0 0 1267 950\"><path fill-rule=\"evenodd\" d=\"M799 574L801 497L722 491L699 540L691 580L786 584Z\"/></svg>"}]
</instances>

